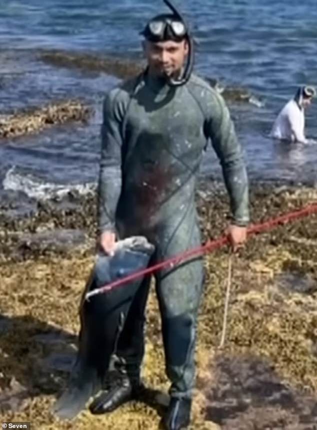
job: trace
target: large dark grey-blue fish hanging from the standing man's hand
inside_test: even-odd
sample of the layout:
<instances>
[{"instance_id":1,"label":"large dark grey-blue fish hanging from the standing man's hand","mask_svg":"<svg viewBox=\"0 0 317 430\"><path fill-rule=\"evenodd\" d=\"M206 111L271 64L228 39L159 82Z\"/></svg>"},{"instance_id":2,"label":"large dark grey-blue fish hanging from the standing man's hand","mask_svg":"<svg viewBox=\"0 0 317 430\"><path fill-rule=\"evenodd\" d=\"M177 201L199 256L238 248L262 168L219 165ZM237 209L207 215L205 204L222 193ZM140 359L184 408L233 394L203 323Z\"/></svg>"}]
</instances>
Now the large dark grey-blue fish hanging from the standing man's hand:
<instances>
[{"instance_id":1,"label":"large dark grey-blue fish hanging from the standing man's hand","mask_svg":"<svg viewBox=\"0 0 317 430\"><path fill-rule=\"evenodd\" d=\"M116 341L142 278L84 300L87 292L145 269L154 247L136 236L117 242L114 255L99 255L80 303L79 348L68 386L53 411L71 419L101 387L115 353Z\"/></svg>"}]
</instances>

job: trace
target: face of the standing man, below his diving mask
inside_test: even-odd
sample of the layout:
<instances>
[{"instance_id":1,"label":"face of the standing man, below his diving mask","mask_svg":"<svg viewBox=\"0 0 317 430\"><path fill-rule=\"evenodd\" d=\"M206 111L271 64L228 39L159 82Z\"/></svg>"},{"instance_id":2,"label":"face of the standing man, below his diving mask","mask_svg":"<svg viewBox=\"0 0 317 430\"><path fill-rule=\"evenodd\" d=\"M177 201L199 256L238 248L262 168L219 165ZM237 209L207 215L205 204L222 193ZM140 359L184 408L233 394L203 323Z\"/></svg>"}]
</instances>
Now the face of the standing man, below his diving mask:
<instances>
[{"instance_id":1,"label":"face of the standing man, below his diving mask","mask_svg":"<svg viewBox=\"0 0 317 430\"><path fill-rule=\"evenodd\" d=\"M156 76L177 75L188 54L188 43L185 40L155 43L145 41L143 48L149 71Z\"/></svg>"}]
</instances>

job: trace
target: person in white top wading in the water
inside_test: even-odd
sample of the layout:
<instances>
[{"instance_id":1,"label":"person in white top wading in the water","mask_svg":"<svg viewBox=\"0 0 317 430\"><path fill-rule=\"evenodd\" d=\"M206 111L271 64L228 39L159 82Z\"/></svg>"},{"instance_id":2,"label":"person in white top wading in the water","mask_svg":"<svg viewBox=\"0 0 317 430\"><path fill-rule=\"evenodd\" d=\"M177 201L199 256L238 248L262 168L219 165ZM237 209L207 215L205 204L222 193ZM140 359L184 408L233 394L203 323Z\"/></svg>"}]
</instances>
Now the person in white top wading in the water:
<instances>
[{"instance_id":1,"label":"person in white top wading in the water","mask_svg":"<svg viewBox=\"0 0 317 430\"><path fill-rule=\"evenodd\" d=\"M289 100L279 112L273 124L270 136L289 142L307 143L308 140L304 132L304 110L310 105L315 95L316 90L313 87L299 87L295 96Z\"/></svg>"}]
</instances>

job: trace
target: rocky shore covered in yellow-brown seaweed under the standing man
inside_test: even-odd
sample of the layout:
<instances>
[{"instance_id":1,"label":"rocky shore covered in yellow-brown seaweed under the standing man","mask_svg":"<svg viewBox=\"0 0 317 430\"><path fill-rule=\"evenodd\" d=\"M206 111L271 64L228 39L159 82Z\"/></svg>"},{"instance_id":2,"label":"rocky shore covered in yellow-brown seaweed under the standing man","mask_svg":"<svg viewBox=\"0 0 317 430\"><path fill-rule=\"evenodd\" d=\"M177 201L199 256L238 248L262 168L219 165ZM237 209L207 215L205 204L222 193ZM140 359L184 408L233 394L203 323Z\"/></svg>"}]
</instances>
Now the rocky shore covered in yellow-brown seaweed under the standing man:
<instances>
[{"instance_id":1,"label":"rocky shore covered in yellow-brown seaweed under the standing man","mask_svg":"<svg viewBox=\"0 0 317 430\"><path fill-rule=\"evenodd\" d=\"M315 201L314 188L253 186L252 221ZM32 202L19 217L0 208L0 410L39 429L157 428L161 401L149 391L108 416L88 412L72 423L50 412L76 349L78 303L93 265L95 195ZM197 191L203 239L227 224L223 188ZM11 209L13 210L14 207ZM226 342L222 328L226 249L205 258L199 317L195 429L313 429L317 424L317 217L249 238L233 260ZM165 391L157 305L147 312L146 384ZM162 397L163 398L163 397Z\"/></svg>"}]
</instances>

